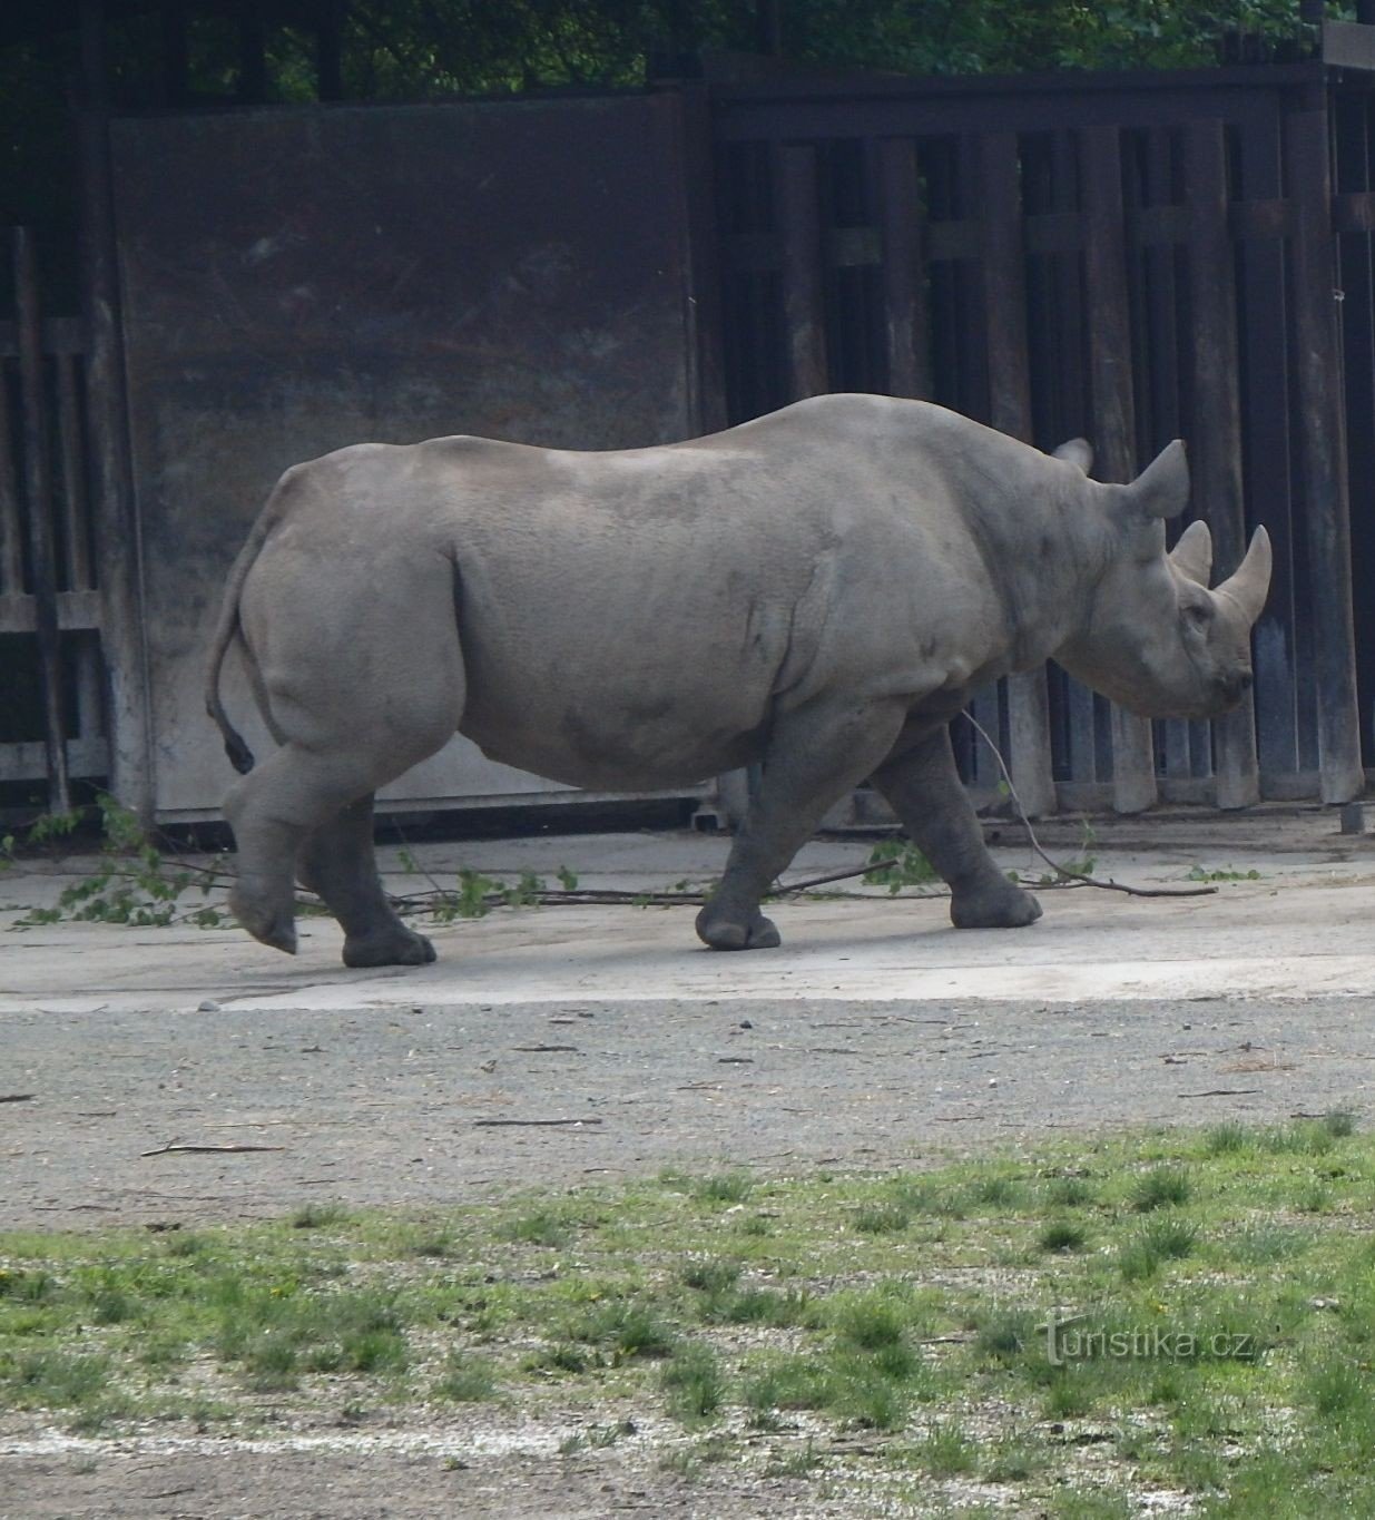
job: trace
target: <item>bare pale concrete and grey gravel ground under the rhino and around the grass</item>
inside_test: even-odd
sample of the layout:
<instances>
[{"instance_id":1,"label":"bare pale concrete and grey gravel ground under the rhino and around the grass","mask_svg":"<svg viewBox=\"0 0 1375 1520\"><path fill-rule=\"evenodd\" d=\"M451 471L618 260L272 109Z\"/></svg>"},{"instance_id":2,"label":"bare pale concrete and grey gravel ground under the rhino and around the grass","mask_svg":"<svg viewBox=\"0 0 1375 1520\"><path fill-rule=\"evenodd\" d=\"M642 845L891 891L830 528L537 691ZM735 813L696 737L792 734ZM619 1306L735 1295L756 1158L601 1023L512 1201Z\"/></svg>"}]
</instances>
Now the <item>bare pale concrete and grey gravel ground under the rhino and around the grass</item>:
<instances>
[{"instance_id":1,"label":"bare pale concrete and grey gravel ground under the rhino and around the grass","mask_svg":"<svg viewBox=\"0 0 1375 1520\"><path fill-rule=\"evenodd\" d=\"M439 929L436 965L386 973L346 971L319 920L295 959L237 930L6 933L0 1228L442 1205L669 1163L921 1164L1064 1128L1367 1116L1375 844L1319 809L1095 831L1100 877L1223 879L1191 898L1048 891L1045 918L1018 932L957 933L940 898L792 901L775 915L784 947L744 956L699 947L687 907L501 910ZM1048 833L1082 853L1076 828ZM641 889L708 877L725 848L653 834L418 854L441 880L459 863L550 880L567 865L583 886ZM814 844L792 879L868 848ZM1019 844L1001 859L1030 865ZM11 874L0 923L88 869ZM226 1145L260 1149L167 1149ZM763 1470L687 1480L647 1432L561 1458L558 1430L474 1418L248 1446L81 1441L11 1418L0 1515L930 1512Z\"/></svg>"}]
</instances>

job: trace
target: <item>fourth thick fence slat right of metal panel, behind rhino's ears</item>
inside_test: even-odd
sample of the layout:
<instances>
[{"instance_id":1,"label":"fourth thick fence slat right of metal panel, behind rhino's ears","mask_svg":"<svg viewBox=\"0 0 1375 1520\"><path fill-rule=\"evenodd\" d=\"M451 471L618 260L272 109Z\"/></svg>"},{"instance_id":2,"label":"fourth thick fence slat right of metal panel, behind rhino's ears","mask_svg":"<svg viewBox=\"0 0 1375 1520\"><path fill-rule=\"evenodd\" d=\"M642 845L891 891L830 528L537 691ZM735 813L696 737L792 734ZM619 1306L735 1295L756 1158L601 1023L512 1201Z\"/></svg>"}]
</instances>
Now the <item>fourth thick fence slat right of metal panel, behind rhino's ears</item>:
<instances>
[{"instance_id":1,"label":"fourth thick fence slat right of metal panel, behind rhino's ears","mask_svg":"<svg viewBox=\"0 0 1375 1520\"><path fill-rule=\"evenodd\" d=\"M1123 226L1121 140L1115 126L1082 134L1085 292L1089 330L1089 389L1098 474L1124 482L1135 476L1136 413L1132 395L1132 325L1127 307L1127 254ZM1156 803L1155 745L1150 724L1112 710L1112 806L1140 813Z\"/></svg>"}]
</instances>

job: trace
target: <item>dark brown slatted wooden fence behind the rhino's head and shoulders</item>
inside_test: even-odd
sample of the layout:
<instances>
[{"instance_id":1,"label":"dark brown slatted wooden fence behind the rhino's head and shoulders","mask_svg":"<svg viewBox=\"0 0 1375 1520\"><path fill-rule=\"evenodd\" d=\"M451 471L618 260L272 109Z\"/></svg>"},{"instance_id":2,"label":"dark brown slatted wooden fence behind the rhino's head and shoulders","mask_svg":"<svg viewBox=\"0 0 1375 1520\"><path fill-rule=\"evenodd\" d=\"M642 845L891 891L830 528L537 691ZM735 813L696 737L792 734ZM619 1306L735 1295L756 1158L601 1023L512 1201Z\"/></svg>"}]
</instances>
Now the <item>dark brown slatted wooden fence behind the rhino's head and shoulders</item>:
<instances>
[{"instance_id":1,"label":"dark brown slatted wooden fence behind the rhino's head and shoulders","mask_svg":"<svg viewBox=\"0 0 1375 1520\"><path fill-rule=\"evenodd\" d=\"M1033 812L1346 800L1364 784L1346 413L1367 492L1372 97L1339 116L1320 65L1112 84L720 90L729 416L925 397L1047 448L1082 433L1108 480L1187 438L1219 570L1255 523L1275 540L1253 699L1152 725L1051 667L975 716ZM959 749L992 787L972 730Z\"/></svg>"}]
</instances>

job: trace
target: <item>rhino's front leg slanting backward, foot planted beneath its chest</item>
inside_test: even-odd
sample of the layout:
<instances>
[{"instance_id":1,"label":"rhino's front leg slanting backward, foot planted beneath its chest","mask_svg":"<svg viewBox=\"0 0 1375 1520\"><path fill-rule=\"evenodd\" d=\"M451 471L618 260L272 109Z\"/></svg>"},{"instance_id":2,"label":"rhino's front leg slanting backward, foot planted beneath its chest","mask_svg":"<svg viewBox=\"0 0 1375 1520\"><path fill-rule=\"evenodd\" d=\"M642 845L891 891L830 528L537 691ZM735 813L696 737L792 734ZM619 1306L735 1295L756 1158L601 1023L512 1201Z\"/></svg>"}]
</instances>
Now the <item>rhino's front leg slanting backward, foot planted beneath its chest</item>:
<instances>
[{"instance_id":1,"label":"rhino's front leg slanting backward, foot planted beneath its chest","mask_svg":"<svg viewBox=\"0 0 1375 1520\"><path fill-rule=\"evenodd\" d=\"M778 719L720 886L697 914L705 944L767 950L781 942L760 912L760 898L816 833L827 809L892 749L901 725L902 710L893 702L814 702Z\"/></svg>"}]
</instances>

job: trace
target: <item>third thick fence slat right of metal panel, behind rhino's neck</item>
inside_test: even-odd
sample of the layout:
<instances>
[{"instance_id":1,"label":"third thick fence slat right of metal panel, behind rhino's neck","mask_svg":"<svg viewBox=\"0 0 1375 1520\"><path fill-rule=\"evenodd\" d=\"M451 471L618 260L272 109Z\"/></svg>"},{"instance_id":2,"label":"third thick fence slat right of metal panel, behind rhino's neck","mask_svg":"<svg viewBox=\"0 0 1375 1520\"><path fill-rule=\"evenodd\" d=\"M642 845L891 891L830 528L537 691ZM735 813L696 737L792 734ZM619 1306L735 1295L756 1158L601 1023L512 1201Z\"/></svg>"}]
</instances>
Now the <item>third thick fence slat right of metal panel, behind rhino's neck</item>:
<instances>
[{"instance_id":1,"label":"third thick fence slat right of metal panel, behind rhino's neck","mask_svg":"<svg viewBox=\"0 0 1375 1520\"><path fill-rule=\"evenodd\" d=\"M1003 433L1032 441L1027 368L1027 289L1021 164L1015 132L978 140L983 188L983 295L988 330L989 420ZM1007 768L1026 812L1054 812L1050 698L1045 667L1007 678Z\"/></svg>"}]
</instances>

